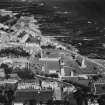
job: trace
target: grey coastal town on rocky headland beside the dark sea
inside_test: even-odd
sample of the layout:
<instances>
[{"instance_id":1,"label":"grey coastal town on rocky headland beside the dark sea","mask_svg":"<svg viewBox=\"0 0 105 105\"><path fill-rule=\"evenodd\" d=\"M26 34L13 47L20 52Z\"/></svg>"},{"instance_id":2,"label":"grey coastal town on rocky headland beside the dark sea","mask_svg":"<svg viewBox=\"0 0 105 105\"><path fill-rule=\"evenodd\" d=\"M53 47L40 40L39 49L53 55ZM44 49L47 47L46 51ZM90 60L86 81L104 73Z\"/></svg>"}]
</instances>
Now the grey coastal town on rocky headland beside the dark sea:
<instances>
[{"instance_id":1,"label":"grey coastal town on rocky headland beside the dark sea","mask_svg":"<svg viewBox=\"0 0 105 105\"><path fill-rule=\"evenodd\" d=\"M104 60L87 58L72 45L43 36L32 15L0 12L9 18L0 23L1 104L96 105L105 101Z\"/></svg>"}]
</instances>

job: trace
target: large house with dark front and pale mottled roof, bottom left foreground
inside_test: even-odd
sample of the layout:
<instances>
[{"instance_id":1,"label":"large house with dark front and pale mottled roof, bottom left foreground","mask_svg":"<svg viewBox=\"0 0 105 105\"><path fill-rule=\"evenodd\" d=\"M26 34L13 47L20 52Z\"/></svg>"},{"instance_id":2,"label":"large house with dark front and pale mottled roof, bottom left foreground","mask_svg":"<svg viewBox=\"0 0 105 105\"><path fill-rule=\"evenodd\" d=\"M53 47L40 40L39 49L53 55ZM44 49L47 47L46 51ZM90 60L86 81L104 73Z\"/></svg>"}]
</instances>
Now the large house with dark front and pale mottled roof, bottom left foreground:
<instances>
[{"instance_id":1,"label":"large house with dark front and pale mottled roof, bottom left foreground","mask_svg":"<svg viewBox=\"0 0 105 105\"><path fill-rule=\"evenodd\" d=\"M42 89L38 80L22 80L18 83L13 103L47 102L52 100L52 89Z\"/></svg>"}]
</instances>

